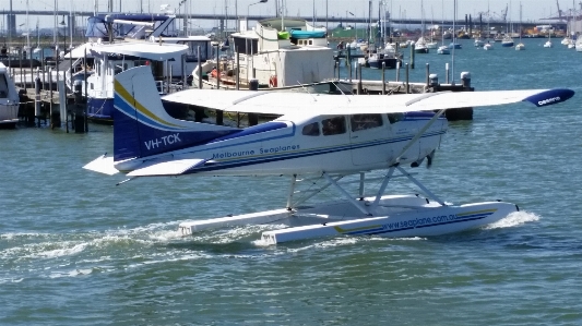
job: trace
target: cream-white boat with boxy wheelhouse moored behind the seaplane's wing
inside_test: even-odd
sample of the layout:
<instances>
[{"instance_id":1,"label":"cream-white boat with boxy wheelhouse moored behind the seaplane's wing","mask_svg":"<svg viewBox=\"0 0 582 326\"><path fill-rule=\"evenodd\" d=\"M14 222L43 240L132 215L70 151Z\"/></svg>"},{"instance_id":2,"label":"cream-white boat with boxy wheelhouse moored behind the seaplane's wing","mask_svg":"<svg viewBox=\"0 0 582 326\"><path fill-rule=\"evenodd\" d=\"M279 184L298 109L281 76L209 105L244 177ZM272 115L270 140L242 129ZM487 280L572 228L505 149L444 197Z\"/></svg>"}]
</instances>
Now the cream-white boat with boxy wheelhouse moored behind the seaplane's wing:
<instances>
[{"instance_id":1,"label":"cream-white boat with boxy wheelhouse moored behind the seaplane's wing","mask_svg":"<svg viewBox=\"0 0 582 326\"><path fill-rule=\"evenodd\" d=\"M219 59L219 65L216 60L209 60L194 69L194 86L201 82L203 87L234 89L237 73L238 87L242 89L249 88L252 80L258 81L259 88L287 89L301 85L319 88L319 84L333 79L333 51L328 47L325 29L311 26L306 20L265 19L254 28L230 37L234 58ZM329 90L329 84L322 87Z\"/></svg>"}]
</instances>

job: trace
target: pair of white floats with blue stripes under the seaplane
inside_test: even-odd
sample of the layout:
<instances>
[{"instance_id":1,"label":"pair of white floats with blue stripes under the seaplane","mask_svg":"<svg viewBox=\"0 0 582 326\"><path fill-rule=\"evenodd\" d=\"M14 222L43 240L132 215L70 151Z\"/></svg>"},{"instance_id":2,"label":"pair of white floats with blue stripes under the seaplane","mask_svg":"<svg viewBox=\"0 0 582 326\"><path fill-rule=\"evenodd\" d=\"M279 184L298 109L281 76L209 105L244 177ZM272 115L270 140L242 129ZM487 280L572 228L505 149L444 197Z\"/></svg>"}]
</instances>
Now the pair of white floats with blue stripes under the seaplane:
<instances>
[{"instance_id":1,"label":"pair of white floats with blue stripes under the seaplane","mask_svg":"<svg viewBox=\"0 0 582 326\"><path fill-rule=\"evenodd\" d=\"M370 206L373 198L359 201ZM337 236L377 236L388 238L431 237L482 227L507 217L518 207L510 203L486 202L461 206L440 206L418 196L383 196L375 216L365 216L346 201L319 204L296 210L276 209L258 214L182 222L183 236L241 225L275 224L283 229L264 231L262 241L276 244L288 241Z\"/></svg>"}]
</instances>

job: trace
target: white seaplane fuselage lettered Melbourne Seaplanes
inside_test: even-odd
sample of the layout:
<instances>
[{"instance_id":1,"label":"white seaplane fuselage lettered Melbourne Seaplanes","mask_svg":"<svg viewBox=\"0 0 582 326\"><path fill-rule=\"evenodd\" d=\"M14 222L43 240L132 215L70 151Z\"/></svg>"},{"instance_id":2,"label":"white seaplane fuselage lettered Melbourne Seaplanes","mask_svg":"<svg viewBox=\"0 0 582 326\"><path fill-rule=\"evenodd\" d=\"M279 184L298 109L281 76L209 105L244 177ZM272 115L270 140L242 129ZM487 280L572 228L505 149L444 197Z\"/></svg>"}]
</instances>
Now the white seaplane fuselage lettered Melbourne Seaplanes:
<instances>
[{"instance_id":1,"label":"white seaplane fuselage lettered Melbourne Seaplanes","mask_svg":"<svg viewBox=\"0 0 582 326\"><path fill-rule=\"evenodd\" d=\"M299 114L297 114L299 116ZM149 162L171 157L203 159L204 165L188 173L212 176L306 174L387 169L396 155L431 118L431 113L283 116L271 122L250 126L206 144L147 156ZM329 131L335 122L340 130ZM401 164L419 161L433 152L447 131L440 118L400 158ZM142 140L145 149L162 149L181 142L174 135ZM139 169L143 158L116 162L120 171Z\"/></svg>"}]
</instances>

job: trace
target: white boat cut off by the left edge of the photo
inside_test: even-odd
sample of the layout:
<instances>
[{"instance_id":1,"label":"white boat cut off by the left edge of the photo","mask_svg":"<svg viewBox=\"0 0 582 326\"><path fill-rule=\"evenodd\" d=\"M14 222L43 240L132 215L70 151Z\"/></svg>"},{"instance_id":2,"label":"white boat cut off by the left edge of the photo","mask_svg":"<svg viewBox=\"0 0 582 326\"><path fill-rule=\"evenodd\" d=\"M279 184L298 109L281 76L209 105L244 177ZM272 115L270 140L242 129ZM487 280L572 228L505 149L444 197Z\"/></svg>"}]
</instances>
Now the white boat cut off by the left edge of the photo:
<instances>
[{"instance_id":1,"label":"white boat cut off by the left edge of the photo","mask_svg":"<svg viewBox=\"0 0 582 326\"><path fill-rule=\"evenodd\" d=\"M19 122L20 97L8 68L0 62L0 128L14 128Z\"/></svg>"}]
</instances>

